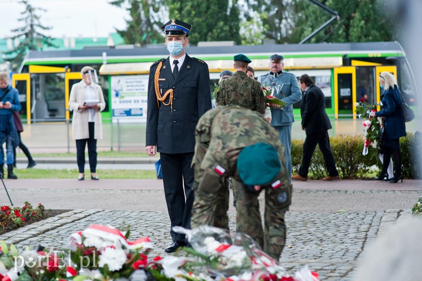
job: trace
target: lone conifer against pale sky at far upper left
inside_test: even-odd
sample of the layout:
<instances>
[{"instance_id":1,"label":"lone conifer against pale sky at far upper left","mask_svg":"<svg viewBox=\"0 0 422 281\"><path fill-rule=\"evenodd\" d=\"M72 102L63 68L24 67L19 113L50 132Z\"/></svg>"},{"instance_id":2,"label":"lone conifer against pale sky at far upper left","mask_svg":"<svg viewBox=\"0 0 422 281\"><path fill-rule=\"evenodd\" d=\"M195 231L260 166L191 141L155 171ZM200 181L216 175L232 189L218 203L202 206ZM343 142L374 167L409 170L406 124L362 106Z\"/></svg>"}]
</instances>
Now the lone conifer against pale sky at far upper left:
<instances>
[{"instance_id":1,"label":"lone conifer against pale sky at far upper left","mask_svg":"<svg viewBox=\"0 0 422 281\"><path fill-rule=\"evenodd\" d=\"M22 17L18 19L19 22L23 22L23 26L17 29L11 30L16 33L12 40L20 40L18 46L12 50L5 52L7 59L11 63L12 70L18 70L28 50L42 50L43 46L53 46L52 38L44 35L41 31L50 30L51 27L41 25L40 16L36 14L39 11L45 11L45 9L33 7L28 0L20 0L19 3L25 5L25 10L21 12Z\"/></svg>"}]
</instances>

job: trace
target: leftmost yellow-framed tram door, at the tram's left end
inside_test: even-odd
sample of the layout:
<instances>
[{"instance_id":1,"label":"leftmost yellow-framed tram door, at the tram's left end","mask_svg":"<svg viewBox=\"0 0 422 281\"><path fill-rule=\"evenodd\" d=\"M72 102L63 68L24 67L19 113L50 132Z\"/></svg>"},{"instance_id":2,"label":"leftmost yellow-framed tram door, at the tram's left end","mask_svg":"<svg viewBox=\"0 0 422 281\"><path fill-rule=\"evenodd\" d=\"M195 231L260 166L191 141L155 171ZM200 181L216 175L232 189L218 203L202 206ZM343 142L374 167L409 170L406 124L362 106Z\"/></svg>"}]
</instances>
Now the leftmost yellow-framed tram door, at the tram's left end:
<instances>
[{"instance_id":1,"label":"leftmost yellow-framed tram door, at the tram's left end","mask_svg":"<svg viewBox=\"0 0 422 281\"><path fill-rule=\"evenodd\" d=\"M20 111L28 124L31 124L31 78L29 73L12 74L12 87L19 91L19 102L22 105Z\"/></svg>"}]
</instances>

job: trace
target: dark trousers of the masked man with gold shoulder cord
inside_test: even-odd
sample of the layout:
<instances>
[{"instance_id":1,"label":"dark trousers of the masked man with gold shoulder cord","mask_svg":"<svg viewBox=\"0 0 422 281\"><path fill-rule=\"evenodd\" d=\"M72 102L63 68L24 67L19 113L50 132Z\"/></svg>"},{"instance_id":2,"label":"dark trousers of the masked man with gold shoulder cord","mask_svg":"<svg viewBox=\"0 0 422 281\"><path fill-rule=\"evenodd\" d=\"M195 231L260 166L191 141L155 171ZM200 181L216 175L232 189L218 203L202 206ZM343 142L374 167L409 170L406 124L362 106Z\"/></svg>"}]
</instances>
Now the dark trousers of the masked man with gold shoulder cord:
<instances>
[{"instance_id":1,"label":"dark trousers of the masked man with gold shoulder cord","mask_svg":"<svg viewBox=\"0 0 422 281\"><path fill-rule=\"evenodd\" d=\"M193 152L178 154L160 153L164 194L171 221L170 235L173 241L186 241L184 234L173 231L173 226L191 228L191 210L193 204L192 158Z\"/></svg>"}]
</instances>

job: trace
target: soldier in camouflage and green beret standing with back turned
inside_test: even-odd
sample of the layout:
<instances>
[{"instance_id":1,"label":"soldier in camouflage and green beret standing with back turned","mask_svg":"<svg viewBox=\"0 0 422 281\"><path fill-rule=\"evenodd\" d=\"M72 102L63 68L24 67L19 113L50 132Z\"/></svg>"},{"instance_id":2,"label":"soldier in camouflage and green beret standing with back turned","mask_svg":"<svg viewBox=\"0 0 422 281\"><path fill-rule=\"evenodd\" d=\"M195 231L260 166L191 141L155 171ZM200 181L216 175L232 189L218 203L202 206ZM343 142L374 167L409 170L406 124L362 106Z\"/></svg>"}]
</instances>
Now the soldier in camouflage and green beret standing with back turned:
<instances>
[{"instance_id":1,"label":"soldier in camouflage and green beret standing with back turned","mask_svg":"<svg viewBox=\"0 0 422 281\"><path fill-rule=\"evenodd\" d=\"M266 105L261 85L246 75L252 61L243 54L235 55L233 59L236 72L221 82L216 96L217 104L240 105L264 114Z\"/></svg>"}]
</instances>

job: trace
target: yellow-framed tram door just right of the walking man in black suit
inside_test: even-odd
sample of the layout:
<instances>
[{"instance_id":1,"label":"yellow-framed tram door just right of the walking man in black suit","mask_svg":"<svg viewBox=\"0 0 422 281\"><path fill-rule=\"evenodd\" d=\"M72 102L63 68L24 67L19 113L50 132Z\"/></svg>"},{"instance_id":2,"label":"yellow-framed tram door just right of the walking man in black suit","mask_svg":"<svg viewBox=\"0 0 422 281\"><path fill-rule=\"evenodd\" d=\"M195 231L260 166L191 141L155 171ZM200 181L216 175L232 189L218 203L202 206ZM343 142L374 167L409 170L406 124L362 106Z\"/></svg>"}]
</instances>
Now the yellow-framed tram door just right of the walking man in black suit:
<instances>
[{"instance_id":1,"label":"yellow-framed tram door just right of the walking man in black suit","mask_svg":"<svg viewBox=\"0 0 422 281\"><path fill-rule=\"evenodd\" d=\"M356 102L356 68L346 66L334 69L334 114L335 118L350 118Z\"/></svg>"}]
</instances>

